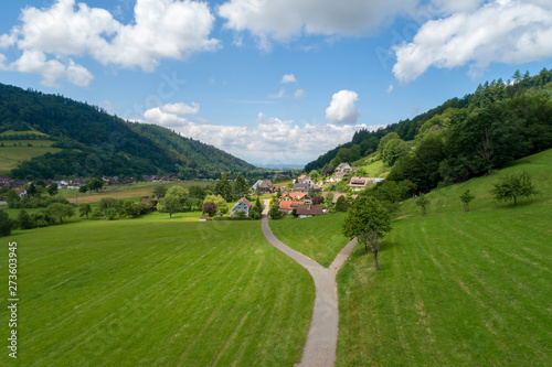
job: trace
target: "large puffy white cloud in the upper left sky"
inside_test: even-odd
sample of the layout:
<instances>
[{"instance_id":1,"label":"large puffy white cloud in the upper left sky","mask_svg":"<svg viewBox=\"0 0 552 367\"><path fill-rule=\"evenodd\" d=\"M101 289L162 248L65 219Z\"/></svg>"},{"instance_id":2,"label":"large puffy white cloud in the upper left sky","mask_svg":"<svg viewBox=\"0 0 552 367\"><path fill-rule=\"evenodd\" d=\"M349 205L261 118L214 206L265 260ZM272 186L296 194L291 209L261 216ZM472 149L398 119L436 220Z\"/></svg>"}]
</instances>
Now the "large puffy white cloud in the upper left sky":
<instances>
[{"instance_id":1,"label":"large puffy white cloud in the upper left sky","mask_svg":"<svg viewBox=\"0 0 552 367\"><path fill-rule=\"evenodd\" d=\"M132 22L123 24L105 9L74 0L57 0L51 8L28 7L21 24L0 35L0 47L22 52L11 69L40 74L46 85L65 78L84 86L92 75L75 57L89 55L104 65L151 72L162 58L185 60L219 47L219 41L209 37L214 17L204 2L138 0L134 14Z\"/></svg>"}]
</instances>

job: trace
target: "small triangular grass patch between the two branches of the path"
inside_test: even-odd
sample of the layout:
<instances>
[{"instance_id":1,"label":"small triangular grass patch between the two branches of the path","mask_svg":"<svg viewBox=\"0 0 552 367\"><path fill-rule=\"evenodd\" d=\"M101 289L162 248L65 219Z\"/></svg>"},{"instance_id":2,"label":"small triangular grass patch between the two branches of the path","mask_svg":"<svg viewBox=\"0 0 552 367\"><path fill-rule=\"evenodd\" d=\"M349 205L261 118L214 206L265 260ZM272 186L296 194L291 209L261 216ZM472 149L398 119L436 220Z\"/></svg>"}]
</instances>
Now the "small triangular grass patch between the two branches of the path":
<instances>
[{"instance_id":1,"label":"small triangular grass patch between the two branches of the path","mask_svg":"<svg viewBox=\"0 0 552 367\"><path fill-rule=\"evenodd\" d=\"M270 220L270 229L280 241L327 268L349 241L341 235L343 218L343 213L301 219L286 216Z\"/></svg>"}]
</instances>

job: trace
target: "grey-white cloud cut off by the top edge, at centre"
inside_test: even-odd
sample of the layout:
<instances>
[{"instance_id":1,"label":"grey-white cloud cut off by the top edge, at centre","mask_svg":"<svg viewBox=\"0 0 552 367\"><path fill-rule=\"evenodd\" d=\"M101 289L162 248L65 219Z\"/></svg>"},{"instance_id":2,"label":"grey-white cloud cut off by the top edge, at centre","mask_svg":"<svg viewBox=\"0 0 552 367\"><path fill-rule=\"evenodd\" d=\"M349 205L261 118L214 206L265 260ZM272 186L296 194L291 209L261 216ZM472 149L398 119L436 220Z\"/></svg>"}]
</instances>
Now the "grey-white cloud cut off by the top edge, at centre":
<instances>
[{"instance_id":1,"label":"grey-white cloud cut off by the top edge, at centre","mask_svg":"<svg viewBox=\"0 0 552 367\"><path fill-rule=\"evenodd\" d=\"M417 0L230 0L219 7L226 29L248 31L262 48L270 40L288 41L305 34L359 35L371 32Z\"/></svg>"}]
</instances>

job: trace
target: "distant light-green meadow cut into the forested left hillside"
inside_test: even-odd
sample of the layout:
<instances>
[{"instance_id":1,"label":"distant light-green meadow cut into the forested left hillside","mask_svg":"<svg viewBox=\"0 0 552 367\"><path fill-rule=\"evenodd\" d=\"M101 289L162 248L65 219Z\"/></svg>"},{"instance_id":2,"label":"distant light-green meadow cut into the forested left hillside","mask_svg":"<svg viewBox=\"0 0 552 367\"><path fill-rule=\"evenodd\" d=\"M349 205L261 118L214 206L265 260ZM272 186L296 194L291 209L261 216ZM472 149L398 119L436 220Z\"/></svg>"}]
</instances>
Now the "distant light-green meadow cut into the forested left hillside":
<instances>
[{"instance_id":1,"label":"distant light-green meadow cut into the forested left hillside","mask_svg":"<svg viewBox=\"0 0 552 367\"><path fill-rule=\"evenodd\" d=\"M54 142L51 140L2 140L0 143L3 144L0 147L0 174L8 173L20 162L29 161L31 158L62 151L60 148L52 148Z\"/></svg>"}]
</instances>

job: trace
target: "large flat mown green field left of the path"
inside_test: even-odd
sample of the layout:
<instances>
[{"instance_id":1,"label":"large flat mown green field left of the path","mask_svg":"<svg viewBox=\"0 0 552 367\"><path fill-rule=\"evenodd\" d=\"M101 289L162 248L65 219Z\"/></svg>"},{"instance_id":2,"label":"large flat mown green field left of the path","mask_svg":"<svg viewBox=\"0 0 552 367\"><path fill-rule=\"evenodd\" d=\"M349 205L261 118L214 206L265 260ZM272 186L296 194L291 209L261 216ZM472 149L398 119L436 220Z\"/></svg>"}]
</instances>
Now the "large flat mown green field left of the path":
<instances>
[{"instance_id":1,"label":"large flat mown green field left of the path","mask_svg":"<svg viewBox=\"0 0 552 367\"><path fill-rule=\"evenodd\" d=\"M81 220L4 238L19 248L18 363L291 366L300 360L312 280L264 239L258 222L149 218ZM8 278L7 261L0 273ZM0 320L8 321L3 293ZM0 365L8 358L3 353Z\"/></svg>"}]
</instances>

